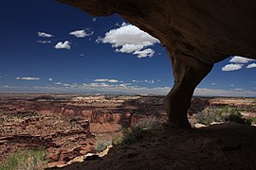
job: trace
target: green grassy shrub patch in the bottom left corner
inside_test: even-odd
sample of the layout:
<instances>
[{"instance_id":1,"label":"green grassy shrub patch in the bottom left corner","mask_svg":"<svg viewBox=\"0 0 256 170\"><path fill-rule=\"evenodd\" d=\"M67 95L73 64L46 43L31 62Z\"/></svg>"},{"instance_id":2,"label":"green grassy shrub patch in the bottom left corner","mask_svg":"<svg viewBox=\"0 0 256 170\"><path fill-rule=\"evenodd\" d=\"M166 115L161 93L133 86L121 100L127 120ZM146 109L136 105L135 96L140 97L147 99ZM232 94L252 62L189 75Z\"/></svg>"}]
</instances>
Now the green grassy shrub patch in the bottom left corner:
<instances>
[{"instance_id":1,"label":"green grassy shrub patch in the bottom left corner","mask_svg":"<svg viewBox=\"0 0 256 170\"><path fill-rule=\"evenodd\" d=\"M0 170L37 170L46 167L46 150L23 150L13 153L0 164Z\"/></svg>"}]
</instances>

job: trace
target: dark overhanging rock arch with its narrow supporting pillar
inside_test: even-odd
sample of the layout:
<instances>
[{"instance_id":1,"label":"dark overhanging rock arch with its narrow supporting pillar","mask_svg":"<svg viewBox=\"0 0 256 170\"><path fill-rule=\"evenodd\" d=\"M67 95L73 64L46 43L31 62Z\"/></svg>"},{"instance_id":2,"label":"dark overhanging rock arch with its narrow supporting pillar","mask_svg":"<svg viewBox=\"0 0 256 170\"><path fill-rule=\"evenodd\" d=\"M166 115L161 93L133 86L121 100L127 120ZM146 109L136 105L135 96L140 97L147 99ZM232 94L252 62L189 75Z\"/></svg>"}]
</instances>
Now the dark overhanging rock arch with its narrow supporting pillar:
<instances>
[{"instance_id":1,"label":"dark overhanging rock arch with its narrow supporting pillar","mask_svg":"<svg viewBox=\"0 0 256 170\"><path fill-rule=\"evenodd\" d=\"M58 0L93 16L119 13L159 39L174 70L165 108L171 127L191 127L192 93L215 62L229 55L256 59L256 1Z\"/></svg>"}]
</instances>

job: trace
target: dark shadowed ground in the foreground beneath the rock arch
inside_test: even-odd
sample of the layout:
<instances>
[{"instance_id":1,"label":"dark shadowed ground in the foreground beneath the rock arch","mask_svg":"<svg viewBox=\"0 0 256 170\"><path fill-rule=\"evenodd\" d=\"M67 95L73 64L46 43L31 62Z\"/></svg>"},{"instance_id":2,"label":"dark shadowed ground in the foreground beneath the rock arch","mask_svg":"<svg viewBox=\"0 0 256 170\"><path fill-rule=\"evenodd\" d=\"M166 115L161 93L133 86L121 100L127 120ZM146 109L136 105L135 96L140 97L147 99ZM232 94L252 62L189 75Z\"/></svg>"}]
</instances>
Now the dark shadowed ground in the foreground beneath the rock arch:
<instances>
[{"instance_id":1,"label":"dark shadowed ground in the foreground beneath the rock arch","mask_svg":"<svg viewBox=\"0 0 256 170\"><path fill-rule=\"evenodd\" d=\"M191 130L160 127L135 144L114 146L101 160L53 169L255 169L255 153L256 127L235 123Z\"/></svg>"}]
</instances>

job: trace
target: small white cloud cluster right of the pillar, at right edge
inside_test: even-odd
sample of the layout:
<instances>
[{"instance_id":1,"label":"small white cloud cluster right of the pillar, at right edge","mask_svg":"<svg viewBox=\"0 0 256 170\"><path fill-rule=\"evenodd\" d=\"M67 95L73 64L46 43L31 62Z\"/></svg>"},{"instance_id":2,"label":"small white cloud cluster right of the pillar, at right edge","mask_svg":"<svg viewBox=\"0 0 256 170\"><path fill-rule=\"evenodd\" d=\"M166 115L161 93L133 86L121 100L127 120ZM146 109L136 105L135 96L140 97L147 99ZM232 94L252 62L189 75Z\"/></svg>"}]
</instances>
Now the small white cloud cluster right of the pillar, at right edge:
<instances>
[{"instance_id":1,"label":"small white cloud cluster right of the pillar, at right edge","mask_svg":"<svg viewBox=\"0 0 256 170\"><path fill-rule=\"evenodd\" d=\"M240 70L243 68L244 64L250 62L250 61L254 61L255 59L247 59L244 57L240 57L240 56L234 56L232 59L229 60L229 64L225 65L222 68L222 71L224 72L228 72L228 71L235 71L235 70ZM256 67L256 63L251 63L247 65L247 68L255 68Z\"/></svg>"}]
</instances>

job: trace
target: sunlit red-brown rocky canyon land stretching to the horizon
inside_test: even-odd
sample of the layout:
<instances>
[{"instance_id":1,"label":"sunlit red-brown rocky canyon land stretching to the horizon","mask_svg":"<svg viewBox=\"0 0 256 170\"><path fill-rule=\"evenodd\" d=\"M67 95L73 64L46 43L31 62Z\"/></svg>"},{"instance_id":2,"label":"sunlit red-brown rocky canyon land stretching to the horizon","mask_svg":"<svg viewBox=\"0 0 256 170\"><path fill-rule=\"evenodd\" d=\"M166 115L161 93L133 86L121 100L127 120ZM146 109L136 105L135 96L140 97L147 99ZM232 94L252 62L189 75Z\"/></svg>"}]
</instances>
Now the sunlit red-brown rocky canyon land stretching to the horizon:
<instances>
[{"instance_id":1,"label":"sunlit red-brown rocky canyon land stretching to the horizon","mask_svg":"<svg viewBox=\"0 0 256 170\"><path fill-rule=\"evenodd\" d=\"M45 147L48 167L66 165L97 153L99 141L121 136L147 117L166 123L163 101L147 95L1 94L0 160L19 149ZM227 106L255 117L255 98L195 96L188 111L192 127L200 125L198 112Z\"/></svg>"}]
</instances>

